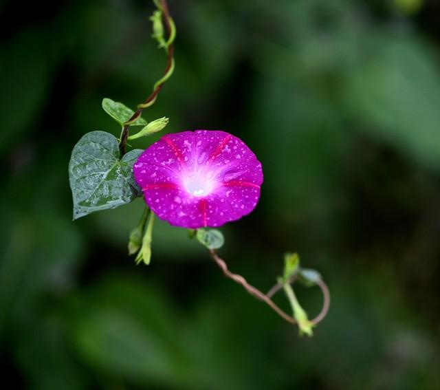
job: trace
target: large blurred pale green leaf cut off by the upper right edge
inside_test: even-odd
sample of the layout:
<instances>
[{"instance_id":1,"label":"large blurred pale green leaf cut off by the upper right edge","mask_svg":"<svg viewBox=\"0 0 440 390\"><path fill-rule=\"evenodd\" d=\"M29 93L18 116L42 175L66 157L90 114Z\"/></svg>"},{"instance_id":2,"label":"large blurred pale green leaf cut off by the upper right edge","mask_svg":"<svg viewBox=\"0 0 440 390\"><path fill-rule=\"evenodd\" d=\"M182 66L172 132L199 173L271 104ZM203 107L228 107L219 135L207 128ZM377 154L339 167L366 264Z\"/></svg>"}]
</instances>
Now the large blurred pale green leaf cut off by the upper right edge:
<instances>
[{"instance_id":1,"label":"large blurred pale green leaf cut off by the upper right edge","mask_svg":"<svg viewBox=\"0 0 440 390\"><path fill-rule=\"evenodd\" d=\"M368 37L349 73L347 104L362 129L440 168L440 72L429 46L407 34Z\"/></svg>"}]
</instances>

